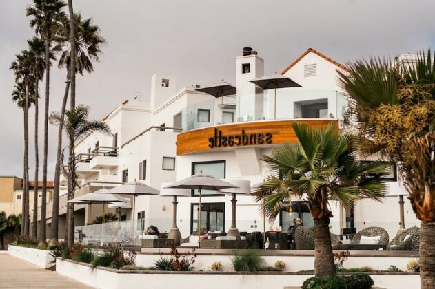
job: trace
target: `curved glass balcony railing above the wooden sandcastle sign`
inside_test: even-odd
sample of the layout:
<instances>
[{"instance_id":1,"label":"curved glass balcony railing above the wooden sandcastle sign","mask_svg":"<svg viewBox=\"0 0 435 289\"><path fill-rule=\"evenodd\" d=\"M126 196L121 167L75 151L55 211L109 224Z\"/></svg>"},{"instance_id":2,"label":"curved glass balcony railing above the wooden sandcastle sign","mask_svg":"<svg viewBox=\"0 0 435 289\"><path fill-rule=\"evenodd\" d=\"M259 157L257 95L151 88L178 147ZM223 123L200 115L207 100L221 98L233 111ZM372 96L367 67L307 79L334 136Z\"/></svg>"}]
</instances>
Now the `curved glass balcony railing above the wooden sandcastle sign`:
<instances>
[{"instance_id":1,"label":"curved glass balcony railing above the wooden sandcastle sign","mask_svg":"<svg viewBox=\"0 0 435 289\"><path fill-rule=\"evenodd\" d=\"M347 96L337 91L268 90L261 94L224 96L181 110L183 131L233 122L294 118L343 118Z\"/></svg>"}]
</instances>

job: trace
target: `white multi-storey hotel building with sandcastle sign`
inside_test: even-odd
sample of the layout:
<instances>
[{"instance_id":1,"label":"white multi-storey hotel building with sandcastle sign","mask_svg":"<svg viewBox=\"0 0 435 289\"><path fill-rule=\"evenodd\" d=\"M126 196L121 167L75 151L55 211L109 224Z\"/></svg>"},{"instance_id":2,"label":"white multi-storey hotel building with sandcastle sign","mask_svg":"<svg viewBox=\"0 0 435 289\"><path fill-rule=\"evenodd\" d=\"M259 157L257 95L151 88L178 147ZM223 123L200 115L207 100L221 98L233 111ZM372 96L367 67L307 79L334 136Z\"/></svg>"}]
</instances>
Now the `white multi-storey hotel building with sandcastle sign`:
<instances>
[{"instance_id":1,"label":"white multi-storey hotel building with sandcastle sign","mask_svg":"<svg viewBox=\"0 0 435 289\"><path fill-rule=\"evenodd\" d=\"M283 67L288 63L283 63ZM285 135L293 121L312 125L338 122L342 118L347 96L337 81L337 69L346 69L327 56L309 49L282 72L301 87L264 90L250 83L263 76L264 61L254 54L236 57L236 95L214 98L196 91L197 87L176 90L172 76L152 76L150 105L136 100L125 100L103 120L112 135L92 133L77 145L78 173L83 193L101 187L112 187L123 182L138 180L156 189L162 182L175 182L187 178L201 169L216 178L261 182L268 174L261 156L294 138ZM219 80L218 80L219 81ZM95 109L95 108L94 108ZM288 129L287 129L288 127ZM270 143L257 144L233 142L231 146L212 147L209 142L214 131L226 135L242 133L271 133ZM242 131L243 130L243 131ZM63 184L66 184L63 180ZM392 175L390 195L406 194ZM59 236L65 230L65 199L61 197ZM239 231L263 231L263 215L259 204L251 196L238 196L236 203ZM199 198L192 191L191 197L179 197L178 226L187 237L197 230ZM231 222L231 197L203 191L201 223L208 231L227 231ZM390 239L399 228L398 197L386 197L383 204L372 200L358 201L353 210L345 210L330 202L334 218L333 233L342 228L367 226L385 228ZM76 226L87 224L88 208L76 207ZM110 209L113 210L113 209ZM290 212L289 212L290 211ZM301 217L305 226L313 221L304 202L293 202L289 211L283 211L274 224L286 231L295 217ZM114 212L114 211L112 211ZM405 197L405 226L414 226L418 220ZM91 220L101 215L101 205L92 208ZM48 203L50 226L51 203ZM123 210L122 220L136 220L136 229L151 224L160 231L169 231L172 224L172 198L160 196L136 197L133 209Z\"/></svg>"}]
</instances>

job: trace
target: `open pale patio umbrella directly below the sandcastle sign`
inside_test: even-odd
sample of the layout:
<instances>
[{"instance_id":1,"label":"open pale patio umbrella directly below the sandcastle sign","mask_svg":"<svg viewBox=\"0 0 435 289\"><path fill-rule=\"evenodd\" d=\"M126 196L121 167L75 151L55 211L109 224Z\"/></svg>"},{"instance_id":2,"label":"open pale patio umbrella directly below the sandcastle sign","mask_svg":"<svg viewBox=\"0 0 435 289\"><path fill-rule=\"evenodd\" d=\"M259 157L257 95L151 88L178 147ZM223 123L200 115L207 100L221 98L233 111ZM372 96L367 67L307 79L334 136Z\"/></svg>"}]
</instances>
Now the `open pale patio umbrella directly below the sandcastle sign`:
<instances>
[{"instance_id":1,"label":"open pale patio umbrella directly below the sandcastle sign","mask_svg":"<svg viewBox=\"0 0 435 289\"><path fill-rule=\"evenodd\" d=\"M214 178L212 175L207 175L203 173L201 170L199 173L192 175L184 180L179 182L174 182L169 186L166 186L165 189L198 189L199 193L199 211L198 211L198 238L201 236L201 191L205 190L214 190L218 191L220 189L229 189L236 188L237 186L234 184L230 184L229 182L225 182L223 180L219 180ZM200 238L199 238L200 239ZM198 243L199 243L198 239Z\"/></svg>"}]
</instances>

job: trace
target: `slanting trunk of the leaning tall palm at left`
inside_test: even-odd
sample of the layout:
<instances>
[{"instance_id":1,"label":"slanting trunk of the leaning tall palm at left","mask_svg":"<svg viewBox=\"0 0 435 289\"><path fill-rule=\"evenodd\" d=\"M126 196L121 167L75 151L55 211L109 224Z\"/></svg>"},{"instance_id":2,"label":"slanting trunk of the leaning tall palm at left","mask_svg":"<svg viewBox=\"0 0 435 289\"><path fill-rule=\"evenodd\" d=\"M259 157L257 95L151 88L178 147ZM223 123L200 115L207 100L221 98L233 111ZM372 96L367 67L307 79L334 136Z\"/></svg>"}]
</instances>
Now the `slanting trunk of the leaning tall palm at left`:
<instances>
[{"instance_id":1,"label":"slanting trunk of the leaning tall palm at left","mask_svg":"<svg viewBox=\"0 0 435 289\"><path fill-rule=\"evenodd\" d=\"M50 231L50 246L57 246L59 239L59 191L60 191L60 178L61 178L61 154L62 154L62 130L63 119L65 117L66 103L68 100L68 92L70 90L70 73L66 76L65 94L63 94L61 121L57 131L57 154L56 154L56 167L54 168L54 191L53 191L53 208L52 208L52 222Z\"/></svg>"}]
</instances>

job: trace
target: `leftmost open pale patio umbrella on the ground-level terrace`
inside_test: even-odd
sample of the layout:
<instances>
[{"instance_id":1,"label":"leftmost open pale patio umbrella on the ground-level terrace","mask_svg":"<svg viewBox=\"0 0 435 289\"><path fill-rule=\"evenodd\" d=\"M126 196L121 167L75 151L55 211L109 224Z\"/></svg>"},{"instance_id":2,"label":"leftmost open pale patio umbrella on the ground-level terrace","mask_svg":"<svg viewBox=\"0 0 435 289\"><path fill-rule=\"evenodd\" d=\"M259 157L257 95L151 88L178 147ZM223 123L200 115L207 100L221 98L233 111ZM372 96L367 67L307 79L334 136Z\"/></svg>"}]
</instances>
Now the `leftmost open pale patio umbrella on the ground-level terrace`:
<instances>
[{"instance_id":1,"label":"leftmost open pale patio umbrella on the ground-level terrace","mask_svg":"<svg viewBox=\"0 0 435 289\"><path fill-rule=\"evenodd\" d=\"M101 235L103 235L103 228L105 223L105 211L104 204L108 203L117 203L117 202L129 202L128 199L124 197L119 197L119 195L112 195L108 193L108 189L99 189L94 191L94 193L87 193L85 195L81 195L80 197L75 197L67 201L68 203L73 204L89 204L90 205L90 215L92 210L92 204L103 204L103 223L101 224ZM90 217L89 217L89 231L90 231Z\"/></svg>"}]
</instances>

